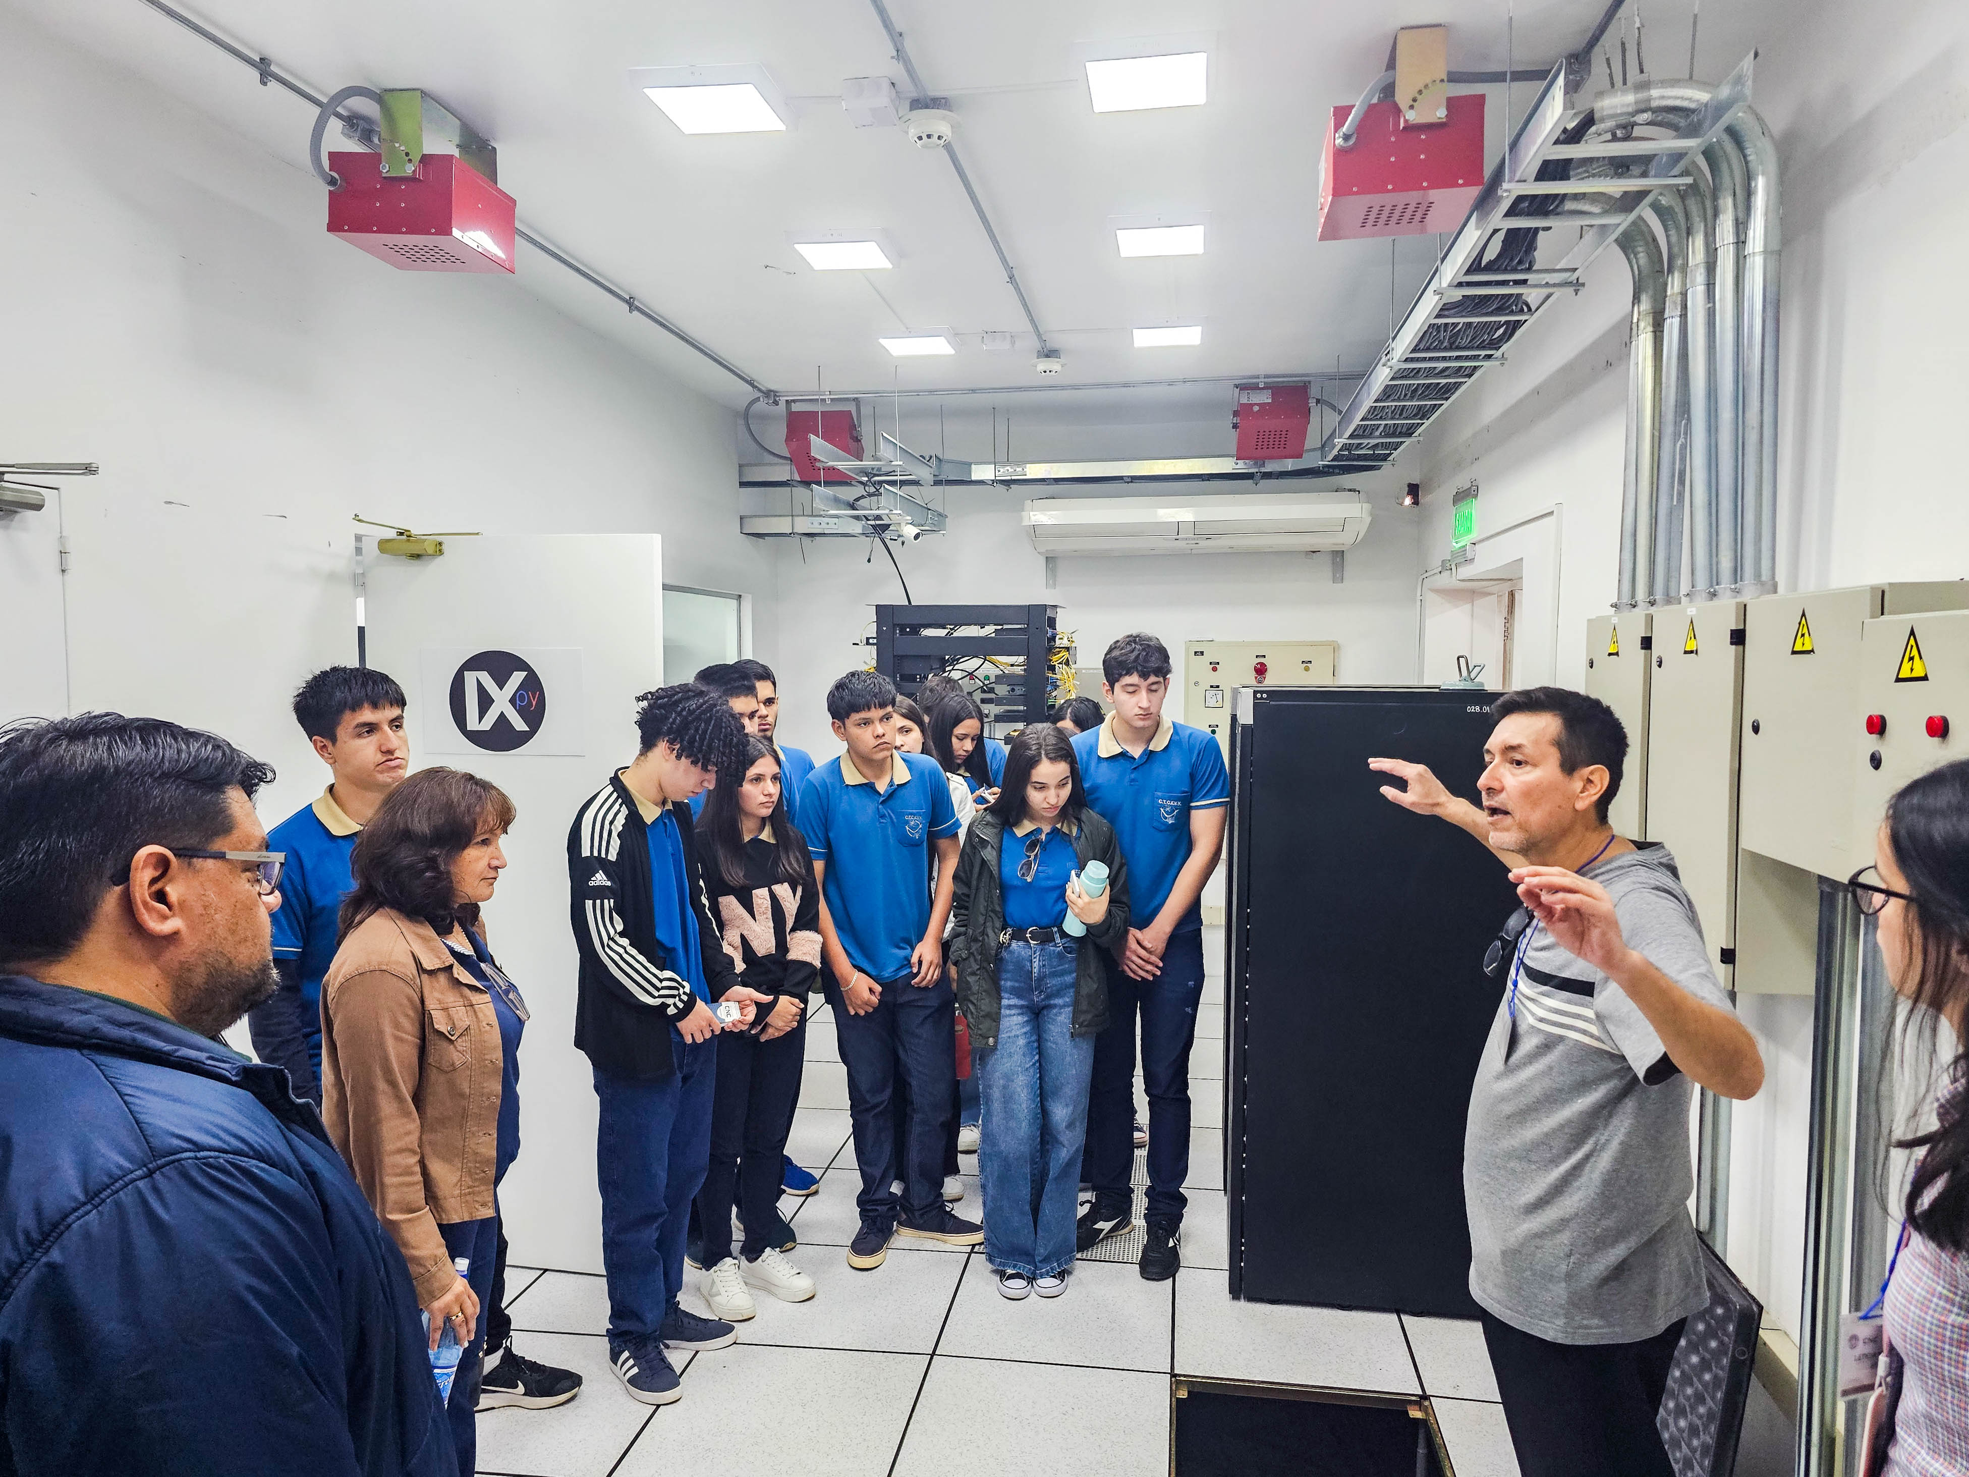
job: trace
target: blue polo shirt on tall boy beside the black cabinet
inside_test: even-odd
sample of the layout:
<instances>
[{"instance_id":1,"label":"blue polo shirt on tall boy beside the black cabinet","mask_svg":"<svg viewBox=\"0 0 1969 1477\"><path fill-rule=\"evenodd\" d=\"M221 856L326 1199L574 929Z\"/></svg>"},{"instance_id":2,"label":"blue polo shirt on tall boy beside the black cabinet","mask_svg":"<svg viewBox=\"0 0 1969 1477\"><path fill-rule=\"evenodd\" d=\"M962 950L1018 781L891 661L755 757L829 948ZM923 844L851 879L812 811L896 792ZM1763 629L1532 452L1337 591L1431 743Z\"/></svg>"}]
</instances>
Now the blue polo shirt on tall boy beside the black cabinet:
<instances>
[{"instance_id":1,"label":"blue polo shirt on tall boy beside the black cabinet","mask_svg":"<svg viewBox=\"0 0 1969 1477\"><path fill-rule=\"evenodd\" d=\"M1128 916L1152 924L1189 861L1189 811L1231 803L1223 750L1203 729L1162 721L1148 748L1130 754L1114 737L1111 713L1099 729L1073 737L1087 807L1114 827L1128 861ZM1177 933L1203 928L1193 902Z\"/></svg>"}]
</instances>

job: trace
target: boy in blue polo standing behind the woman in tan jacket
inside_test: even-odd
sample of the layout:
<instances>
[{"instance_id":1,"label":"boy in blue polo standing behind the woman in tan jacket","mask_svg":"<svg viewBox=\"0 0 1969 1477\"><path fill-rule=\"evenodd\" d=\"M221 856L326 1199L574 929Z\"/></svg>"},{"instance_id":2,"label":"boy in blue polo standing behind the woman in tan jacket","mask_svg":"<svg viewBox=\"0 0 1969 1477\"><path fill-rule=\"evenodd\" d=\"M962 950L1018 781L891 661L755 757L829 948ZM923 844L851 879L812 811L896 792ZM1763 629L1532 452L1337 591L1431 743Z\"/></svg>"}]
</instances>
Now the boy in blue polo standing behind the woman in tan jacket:
<instances>
[{"instance_id":1,"label":"boy in blue polo standing behind the woman in tan jacket","mask_svg":"<svg viewBox=\"0 0 1969 1477\"><path fill-rule=\"evenodd\" d=\"M354 882L349 857L382 798L410 774L404 689L372 668L325 668L293 695L301 733L329 766L329 788L268 835L287 853L274 914L280 991L248 1012L252 1050L286 1067L295 1097L321 1107L321 977L335 961L337 914Z\"/></svg>"}]
</instances>

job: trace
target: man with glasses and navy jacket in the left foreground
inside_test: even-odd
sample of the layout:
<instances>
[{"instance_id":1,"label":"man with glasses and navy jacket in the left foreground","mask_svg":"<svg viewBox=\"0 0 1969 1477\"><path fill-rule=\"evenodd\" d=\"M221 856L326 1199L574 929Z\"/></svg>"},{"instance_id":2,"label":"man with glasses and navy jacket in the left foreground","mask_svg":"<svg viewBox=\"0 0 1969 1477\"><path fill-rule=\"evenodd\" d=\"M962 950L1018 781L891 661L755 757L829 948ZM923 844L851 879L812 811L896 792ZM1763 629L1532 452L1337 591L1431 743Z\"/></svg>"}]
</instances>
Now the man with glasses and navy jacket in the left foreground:
<instances>
[{"instance_id":1,"label":"man with glasses and navy jacket in the left foreground","mask_svg":"<svg viewBox=\"0 0 1969 1477\"><path fill-rule=\"evenodd\" d=\"M272 778L161 719L0 729L8 1473L457 1473L404 1258L217 1040L278 985Z\"/></svg>"}]
</instances>

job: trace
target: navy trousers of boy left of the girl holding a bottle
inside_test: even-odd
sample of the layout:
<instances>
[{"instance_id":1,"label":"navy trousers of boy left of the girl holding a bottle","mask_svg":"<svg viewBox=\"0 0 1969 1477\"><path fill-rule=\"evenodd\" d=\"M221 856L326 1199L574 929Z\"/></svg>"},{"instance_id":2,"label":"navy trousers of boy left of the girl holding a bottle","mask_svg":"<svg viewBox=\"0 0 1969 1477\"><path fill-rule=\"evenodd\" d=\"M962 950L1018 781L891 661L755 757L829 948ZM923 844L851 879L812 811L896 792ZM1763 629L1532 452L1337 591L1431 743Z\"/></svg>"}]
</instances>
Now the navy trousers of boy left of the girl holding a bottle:
<instances>
[{"instance_id":1,"label":"navy trousers of boy left of the girl holding a bottle","mask_svg":"<svg viewBox=\"0 0 1969 1477\"><path fill-rule=\"evenodd\" d=\"M943 1205L943 1148L957 1101L957 996L947 977L923 991L892 979L882 981L874 1010L855 1016L829 981L827 1002L849 1069L860 1217L894 1225L898 1205L890 1186L902 1180L900 1213L921 1223ZM910 1117L898 1128L894 1099L904 1089Z\"/></svg>"}]
</instances>

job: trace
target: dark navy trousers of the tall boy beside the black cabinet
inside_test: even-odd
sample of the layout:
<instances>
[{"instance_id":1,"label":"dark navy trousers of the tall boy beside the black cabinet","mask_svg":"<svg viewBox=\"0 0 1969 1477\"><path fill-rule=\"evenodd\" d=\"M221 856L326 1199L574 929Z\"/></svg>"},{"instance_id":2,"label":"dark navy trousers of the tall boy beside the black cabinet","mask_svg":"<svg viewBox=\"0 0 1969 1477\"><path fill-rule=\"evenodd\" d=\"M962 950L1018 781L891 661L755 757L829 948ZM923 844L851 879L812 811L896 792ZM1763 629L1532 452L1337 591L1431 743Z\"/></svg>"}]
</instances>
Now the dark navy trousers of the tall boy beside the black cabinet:
<instances>
[{"instance_id":1,"label":"dark navy trousers of the tall boy beside the black cabinet","mask_svg":"<svg viewBox=\"0 0 1969 1477\"><path fill-rule=\"evenodd\" d=\"M1203 930L1170 935L1162 973L1132 979L1101 955L1109 983L1109 1028L1095 1040L1087 1101L1087 1180L1114 1205L1128 1199L1134 1170L1134 1022L1142 1020L1142 1087L1148 1091L1148 1215L1183 1219L1189 1178L1189 1048L1203 998Z\"/></svg>"}]
</instances>

